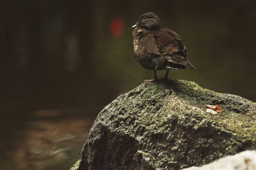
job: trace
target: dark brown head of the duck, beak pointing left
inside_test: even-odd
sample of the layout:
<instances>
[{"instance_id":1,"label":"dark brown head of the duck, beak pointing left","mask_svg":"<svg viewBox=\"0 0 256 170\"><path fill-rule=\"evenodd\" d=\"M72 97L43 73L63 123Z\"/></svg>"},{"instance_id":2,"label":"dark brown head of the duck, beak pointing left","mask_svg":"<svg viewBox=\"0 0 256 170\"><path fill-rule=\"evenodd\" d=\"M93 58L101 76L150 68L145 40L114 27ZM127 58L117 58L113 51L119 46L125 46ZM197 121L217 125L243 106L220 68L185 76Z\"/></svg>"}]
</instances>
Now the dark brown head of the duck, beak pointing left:
<instances>
[{"instance_id":1,"label":"dark brown head of the duck, beak pointing left","mask_svg":"<svg viewBox=\"0 0 256 170\"><path fill-rule=\"evenodd\" d=\"M156 14L154 14L153 12L148 12L141 15L138 19L138 22L136 22L136 24L132 27L145 27L146 29L150 30L158 30L160 29L160 25L161 21L159 17L156 16Z\"/></svg>"}]
</instances>

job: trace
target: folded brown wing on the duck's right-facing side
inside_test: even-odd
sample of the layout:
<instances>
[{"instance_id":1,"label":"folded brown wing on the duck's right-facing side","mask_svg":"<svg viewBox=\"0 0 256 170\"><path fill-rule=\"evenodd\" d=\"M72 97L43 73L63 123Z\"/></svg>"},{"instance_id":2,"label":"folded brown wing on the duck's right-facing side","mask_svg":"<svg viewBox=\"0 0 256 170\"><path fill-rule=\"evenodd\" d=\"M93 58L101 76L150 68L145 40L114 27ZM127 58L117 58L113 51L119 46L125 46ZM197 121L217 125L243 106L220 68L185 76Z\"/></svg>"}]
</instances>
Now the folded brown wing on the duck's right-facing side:
<instances>
[{"instance_id":1,"label":"folded brown wing on the duck's right-facing side","mask_svg":"<svg viewBox=\"0 0 256 170\"><path fill-rule=\"evenodd\" d=\"M187 47L183 44L182 39L176 32L170 29L161 29L155 39L156 47L168 62L195 68L188 61Z\"/></svg>"}]
</instances>

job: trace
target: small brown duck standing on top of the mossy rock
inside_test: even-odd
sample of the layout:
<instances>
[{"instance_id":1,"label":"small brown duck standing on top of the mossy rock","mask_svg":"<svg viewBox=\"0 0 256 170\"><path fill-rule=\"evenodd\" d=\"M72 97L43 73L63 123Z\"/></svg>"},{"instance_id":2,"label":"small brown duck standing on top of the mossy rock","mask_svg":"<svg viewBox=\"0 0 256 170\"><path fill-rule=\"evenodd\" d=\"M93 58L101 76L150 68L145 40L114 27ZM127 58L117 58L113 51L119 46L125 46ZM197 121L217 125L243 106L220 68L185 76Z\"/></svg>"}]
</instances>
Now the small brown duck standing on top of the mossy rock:
<instances>
[{"instance_id":1,"label":"small brown duck standing on top of the mossy rock","mask_svg":"<svg viewBox=\"0 0 256 170\"><path fill-rule=\"evenodd\" d=\"M135 59L143 68L154 71L153 80L160 80L156 70L166 70L168 79L169 70L196 67L188 60L188 49L180 36L170 29L161 29L161 21L153 12L142 14L132 28Z\"/></svg>"}]
</instances>

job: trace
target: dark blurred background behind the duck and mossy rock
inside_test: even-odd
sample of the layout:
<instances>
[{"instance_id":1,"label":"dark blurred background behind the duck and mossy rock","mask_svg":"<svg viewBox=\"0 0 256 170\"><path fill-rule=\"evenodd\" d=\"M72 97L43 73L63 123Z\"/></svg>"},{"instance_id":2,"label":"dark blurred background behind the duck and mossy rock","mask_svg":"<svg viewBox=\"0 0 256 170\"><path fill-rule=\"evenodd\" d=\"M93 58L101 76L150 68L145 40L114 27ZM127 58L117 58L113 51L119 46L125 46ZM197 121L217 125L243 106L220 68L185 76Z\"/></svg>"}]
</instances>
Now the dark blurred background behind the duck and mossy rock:
<instances>
[{"instance_id":1,"label":"dark blurred background behind the duck and mossy rock","mask_svg":"<svg viewBox=\"0 0 256 170\"><path fill-rule=\"evenodd\" d=\"M153 78L131 26L155 12L197 70L169 77L256 100L256 1L1 1L1 169L69 169L101 109ZM165 72L158 72L163 76Z\"/></svg>"}]
</instances>

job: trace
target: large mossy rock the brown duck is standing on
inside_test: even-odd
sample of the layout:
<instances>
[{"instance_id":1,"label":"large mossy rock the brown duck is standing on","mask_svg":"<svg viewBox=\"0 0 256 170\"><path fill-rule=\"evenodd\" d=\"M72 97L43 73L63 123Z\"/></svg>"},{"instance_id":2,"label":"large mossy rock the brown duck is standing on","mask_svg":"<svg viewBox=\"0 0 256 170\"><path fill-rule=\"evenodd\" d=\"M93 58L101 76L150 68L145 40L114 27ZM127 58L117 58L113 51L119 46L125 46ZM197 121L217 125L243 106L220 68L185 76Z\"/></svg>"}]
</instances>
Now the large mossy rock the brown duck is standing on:
<instances>
[{"instance_id":1,"label":"large mossy rock the brown duck is standing on","mask_svg":"<svg viewBox=\"0 0 256 170\"><path fill-rule=\"evenodd\" d=\"M211 115L204 104L218 105ZM182 169L256 149L256 103L184 80L145 82L99 113L73 169Z\"/></svg>"}]
</instances>

